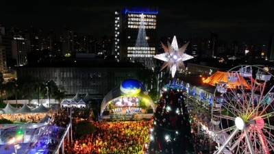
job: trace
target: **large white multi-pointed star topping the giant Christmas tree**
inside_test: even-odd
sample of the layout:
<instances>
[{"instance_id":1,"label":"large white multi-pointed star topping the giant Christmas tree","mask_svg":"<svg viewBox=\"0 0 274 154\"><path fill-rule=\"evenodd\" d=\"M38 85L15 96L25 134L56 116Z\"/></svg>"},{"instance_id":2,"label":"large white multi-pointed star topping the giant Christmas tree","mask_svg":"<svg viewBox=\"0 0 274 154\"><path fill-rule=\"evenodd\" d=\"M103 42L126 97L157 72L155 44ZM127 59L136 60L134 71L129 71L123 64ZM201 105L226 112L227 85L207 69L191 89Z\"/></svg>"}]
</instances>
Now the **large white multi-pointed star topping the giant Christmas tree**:
<instances>
[{"instance_id":1,"label":"large white multi-pointed star topping the giant Christmas tree","mask_svg":"<svg viewBox=\"0 0 274 154\"><path fill-rule=\"evenodd\" d=\"M188 47L189 42L184 44L184 46L179 49L176 36L174 36L172 43L170 43L169 41L167 42L169 47L164 46L162 42L161 44L164 49L164 53L154 55L154 57L158 60L164 61L164 64L162 65L160 71L168 66L166 68L166 72L171 69L171 76L174 77L176 70L179 70L179 68L185 68L184 61L193 58L191 55L187 55L186 53L184 53L184 51L186 51L186 47Z\"/></svg>"}]
</instances>

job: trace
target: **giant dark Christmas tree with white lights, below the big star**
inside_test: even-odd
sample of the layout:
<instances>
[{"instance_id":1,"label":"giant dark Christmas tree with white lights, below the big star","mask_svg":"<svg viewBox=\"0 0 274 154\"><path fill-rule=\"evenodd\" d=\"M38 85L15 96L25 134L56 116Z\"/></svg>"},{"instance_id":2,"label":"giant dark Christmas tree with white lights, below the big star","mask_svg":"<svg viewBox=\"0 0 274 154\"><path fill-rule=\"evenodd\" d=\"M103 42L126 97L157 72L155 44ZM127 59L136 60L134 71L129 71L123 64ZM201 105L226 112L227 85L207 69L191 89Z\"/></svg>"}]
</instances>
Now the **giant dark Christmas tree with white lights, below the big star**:
<instances>
[{"instance_id":1,"label":"giant dark Christmas tree with white lights, below the big star","mask_svg":"<svg viewBox=\"0 0 274 154\"><path fill-rule=\"evenodd\" d=\"M181 86L172 84L162 88L152 123L147 153L194 153L189 114Z\"/></svg>"}]
</instances>

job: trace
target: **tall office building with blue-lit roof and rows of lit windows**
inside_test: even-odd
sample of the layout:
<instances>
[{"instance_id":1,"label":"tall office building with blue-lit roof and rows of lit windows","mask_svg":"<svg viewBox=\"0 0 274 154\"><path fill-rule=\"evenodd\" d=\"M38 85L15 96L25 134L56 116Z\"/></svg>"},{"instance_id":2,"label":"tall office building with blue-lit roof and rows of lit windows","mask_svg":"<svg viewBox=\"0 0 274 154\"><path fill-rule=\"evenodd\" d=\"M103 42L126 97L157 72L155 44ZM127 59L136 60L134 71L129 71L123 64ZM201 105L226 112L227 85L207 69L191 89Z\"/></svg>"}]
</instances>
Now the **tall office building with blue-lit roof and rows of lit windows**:
<instances>
[{"instance_id":1,"label":"tall office building with blue-lit roof and rows of lit windows","mask_svg":"<svg viewBox=\"0 0 274 154\"><path fill-rule=\"evenodd\" d=\"M138 37L138 30L140 27L140 16L144 15L144 24L146 31L146 39L149 44L149 49L141 51L143 54L153 57L155 55L157 46L157 7L132 7L122 10L120 12L120 46L119 59L130 60L136 57L135 45Z\"/></svg>"}]
</instances>

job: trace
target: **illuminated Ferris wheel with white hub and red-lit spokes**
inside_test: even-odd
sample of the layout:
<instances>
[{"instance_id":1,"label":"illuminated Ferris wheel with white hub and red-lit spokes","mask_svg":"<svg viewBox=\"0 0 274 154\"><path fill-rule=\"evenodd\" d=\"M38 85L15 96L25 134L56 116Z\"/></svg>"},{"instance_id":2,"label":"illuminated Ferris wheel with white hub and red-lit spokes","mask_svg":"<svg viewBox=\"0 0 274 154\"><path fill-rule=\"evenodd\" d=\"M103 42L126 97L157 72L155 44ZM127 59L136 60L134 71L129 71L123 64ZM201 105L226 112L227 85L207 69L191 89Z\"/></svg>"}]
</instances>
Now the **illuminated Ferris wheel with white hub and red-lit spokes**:
<instances>
[{"instance_id":1,"label":"illuminated Ferris wheel with white hub and red-lit spokes","mask_svg":"<svg viewBox=\"0 0 274 154\"><path fill-rule=\"evenodd\" d=\"M263 66L242 65L216 82L212 136L219 153L274 151L274 76Z\"/></svg>"}]
</instances>

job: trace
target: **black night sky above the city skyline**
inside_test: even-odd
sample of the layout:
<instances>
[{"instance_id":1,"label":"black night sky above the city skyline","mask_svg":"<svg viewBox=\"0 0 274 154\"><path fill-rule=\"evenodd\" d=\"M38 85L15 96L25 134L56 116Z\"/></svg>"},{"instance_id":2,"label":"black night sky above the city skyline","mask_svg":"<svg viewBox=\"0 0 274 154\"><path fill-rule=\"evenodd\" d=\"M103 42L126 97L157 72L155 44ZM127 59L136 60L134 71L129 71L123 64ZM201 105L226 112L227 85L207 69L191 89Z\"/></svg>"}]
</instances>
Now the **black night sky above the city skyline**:
<instances>
[{"instance_id":1,"label":"black night sky above the city skyline","mask_svg":"<svg viewBox=\"0 0 274 154\"><path fill-rule=\"evenodd\" d=\"M64 26L97 38L114 34L114 10L128 6L158 6L158 36L210 37L262 43L274 33L273 0L265 1L1 1L0 24L59 32Z\"/></svg>"}]
</instances>

